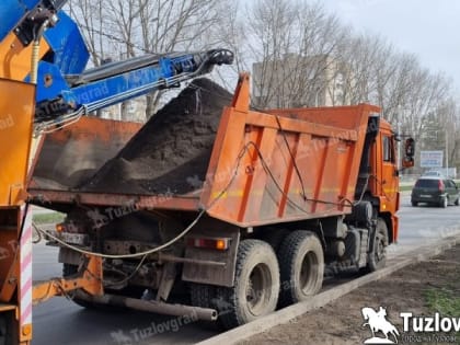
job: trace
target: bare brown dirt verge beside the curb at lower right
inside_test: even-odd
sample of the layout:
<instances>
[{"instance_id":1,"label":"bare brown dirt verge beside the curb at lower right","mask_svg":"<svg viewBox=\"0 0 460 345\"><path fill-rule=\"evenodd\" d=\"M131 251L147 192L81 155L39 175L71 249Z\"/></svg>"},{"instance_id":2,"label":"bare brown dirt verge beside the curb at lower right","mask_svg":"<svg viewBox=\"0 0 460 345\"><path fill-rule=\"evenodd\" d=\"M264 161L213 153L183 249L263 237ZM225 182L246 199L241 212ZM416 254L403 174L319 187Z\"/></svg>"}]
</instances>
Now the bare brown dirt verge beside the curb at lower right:
<instances>
[{"instance_id":1,"label":"bare brown dirt verge beside the curb at lower right","mask_svg":"<svg viewBox=\"0 0 460 345\"><path fill-rule=\"evenodd\" d=\"M364 344L371 337L361 308L378 311L387 308L387 320L400 332L399 344L460 344L460 333L404 333L401 312L417 317L441 317L446 308L460 318L460 246L442 255L405 267L386 278L360 287L327 306L307 312L272 330L250 337L240 345L302 344L350 345ZM444 312L444 313L442 313ZM382 333L376 333L383 337ZM390 336L390 340L394 341ZM370 343L368 343L370 344ZM381 344L381 343L379 343ZM388 343L392 344L392 343Z\"/></svg>"}]
</instances>

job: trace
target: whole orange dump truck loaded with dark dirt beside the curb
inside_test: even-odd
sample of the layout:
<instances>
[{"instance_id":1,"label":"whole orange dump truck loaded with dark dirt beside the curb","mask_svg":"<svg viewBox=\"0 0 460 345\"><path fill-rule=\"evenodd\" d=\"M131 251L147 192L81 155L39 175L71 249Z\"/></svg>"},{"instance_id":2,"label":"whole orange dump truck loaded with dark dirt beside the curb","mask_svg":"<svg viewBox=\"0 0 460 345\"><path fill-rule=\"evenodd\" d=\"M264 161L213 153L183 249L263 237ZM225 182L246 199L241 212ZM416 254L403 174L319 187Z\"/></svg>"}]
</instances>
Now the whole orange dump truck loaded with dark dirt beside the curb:
<instances>
[{"instance_id":1,"label":"whole orange dump truck loaded with dark dirt beside the curb","mask_svg":"<svg viewBox=\"0 0 460 345\"><path fill-rule=\"evenodd\" d=\"M249 90L249 77L242 74L208 156L199 156L204 176L195 176L202 168L189 163L186 188L168 185L164 181L176 171L161 164L158 170L165 173L156 183L146 180L156 174L148 162L157 153L133 165L143 149L127 154L122 147L137 131L135 125L116 129L113 123L87 119L99 124L82 124L83 131L68 127L45 139L31 200L67 214L48 233L60 246L64 275L97 276L103 285L87 288L79 280L77 303L195 313L233 327L310 298L321 289L326 269L384 265L386 248L398 239L400 195L396 135L379 117L380 110L360 104L253 111ZM200 96L206 102L205 91ZM194 138L188 139L192 152ZM94 140L96 148L89 149L85 145ZM62 153L59 147L65 150L69 141L72 149ZM99 187L82 186L101 170L102 153L115 154L114 142L125 150L124 159L112 164L110 174L100 174ZM47 171L50 163L43 161L49 162L50 151L64 165ZM407 147L403 164L410 166L412 157ZM69 162L85 168L73 174ZM124 181L126 172L141 175L145 189ZM57 175L62 181L44 183ZM62 186L69 179L71 185ZM110 179L112 187L101 187ZM122 184L125 189L118 189ZM181 295L187 302L177 302Z\"/></svg>"}]
</instances>

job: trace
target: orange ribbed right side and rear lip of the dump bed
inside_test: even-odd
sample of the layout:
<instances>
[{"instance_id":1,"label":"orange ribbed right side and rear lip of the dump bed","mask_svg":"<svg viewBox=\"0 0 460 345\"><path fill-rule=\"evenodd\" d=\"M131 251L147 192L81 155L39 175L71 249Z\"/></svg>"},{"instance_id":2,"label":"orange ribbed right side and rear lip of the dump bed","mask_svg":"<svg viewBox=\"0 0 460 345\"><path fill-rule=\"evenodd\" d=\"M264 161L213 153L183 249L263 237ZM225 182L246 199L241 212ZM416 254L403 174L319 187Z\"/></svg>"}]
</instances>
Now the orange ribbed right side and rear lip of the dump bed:
<instances>
[{"instance_id":1,"label":"orange ribbed right side and rear lip of the dump bed","mask_svg":"<svg viewBox=\"0 0 460 345\"><path fill-rule=\"evenodd\" d=\"M210 217L239 227L347 214L355 198L368 118L379 111L367 104L251 111L249 81L243 80L221 114L204 182L193 191L114 193L35 185L30 193L61 210L74 204L206 209ZM194 171L189 173L193 176Z\"/></svg>"}]
</instances>

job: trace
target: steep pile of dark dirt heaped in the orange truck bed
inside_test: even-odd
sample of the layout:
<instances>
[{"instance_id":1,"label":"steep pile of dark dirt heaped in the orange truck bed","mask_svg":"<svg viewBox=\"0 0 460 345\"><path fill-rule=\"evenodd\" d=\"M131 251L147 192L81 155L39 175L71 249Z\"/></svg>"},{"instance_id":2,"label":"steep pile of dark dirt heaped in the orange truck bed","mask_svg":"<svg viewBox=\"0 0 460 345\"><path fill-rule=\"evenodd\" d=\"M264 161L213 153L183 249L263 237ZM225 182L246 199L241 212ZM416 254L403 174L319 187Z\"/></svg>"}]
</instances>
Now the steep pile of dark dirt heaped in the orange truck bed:
<instances>
[{"instance_id":1,"label":"steep pile of dark dirt heaped in the orange truck bed","mask_svg":"<svg viewBox=\"0 0 460 345\"><path fill-rule=\"evenodd\" d=\"M119 194L185 194L205 181L222 110L232 95L194 80L154 114L81 189Z\"/></svg>"}]
</instances>

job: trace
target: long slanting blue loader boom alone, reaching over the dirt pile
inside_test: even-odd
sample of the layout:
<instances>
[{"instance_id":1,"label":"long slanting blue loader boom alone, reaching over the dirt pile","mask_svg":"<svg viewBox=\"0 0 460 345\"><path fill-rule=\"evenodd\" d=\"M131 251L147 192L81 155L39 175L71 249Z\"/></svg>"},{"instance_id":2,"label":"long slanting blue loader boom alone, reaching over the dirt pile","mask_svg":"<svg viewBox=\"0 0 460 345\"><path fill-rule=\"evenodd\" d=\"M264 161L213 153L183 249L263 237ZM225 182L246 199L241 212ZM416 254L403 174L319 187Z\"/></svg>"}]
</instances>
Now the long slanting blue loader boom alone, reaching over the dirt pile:
<instances>
[{"instance_id":1,"label":"long slanting blue loader boom alone, reaching over the dirt pile","mask_svg":"<svg viewBox=\"0 0 460 345\"><path fill-rule=\"evenodd\" d=\"M227 49L146 55L64 77L55 66L43 62L38 76L53 79L54 85L46 85L44 80L37 89L36 122L84 115L154 90L177 87L232 59Z\"/></svg>"}]
</instances>

